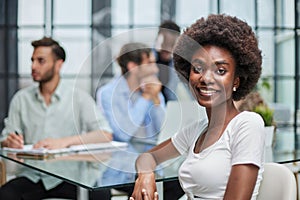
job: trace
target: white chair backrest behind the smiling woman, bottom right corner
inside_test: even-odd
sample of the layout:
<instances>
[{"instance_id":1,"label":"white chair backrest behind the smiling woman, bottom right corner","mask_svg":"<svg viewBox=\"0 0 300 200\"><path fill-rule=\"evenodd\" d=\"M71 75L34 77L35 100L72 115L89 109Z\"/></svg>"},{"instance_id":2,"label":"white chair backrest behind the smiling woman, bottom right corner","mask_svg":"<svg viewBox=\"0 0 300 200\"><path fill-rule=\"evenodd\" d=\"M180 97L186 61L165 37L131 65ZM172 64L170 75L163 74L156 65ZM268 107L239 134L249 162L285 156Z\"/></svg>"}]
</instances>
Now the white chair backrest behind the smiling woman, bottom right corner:
<instances>
[{"instance_id":1,"label":"white chair backrest behind the smiling woman, bottom right corner","mask_svg":"<svg viewBox=\"0 0 300 200\"><path fill-rule=\"evenodd\" d=\"M278 163L265 163L257 200L296 200L297 185L293 172Z\"/></svg>"}]
</instances>

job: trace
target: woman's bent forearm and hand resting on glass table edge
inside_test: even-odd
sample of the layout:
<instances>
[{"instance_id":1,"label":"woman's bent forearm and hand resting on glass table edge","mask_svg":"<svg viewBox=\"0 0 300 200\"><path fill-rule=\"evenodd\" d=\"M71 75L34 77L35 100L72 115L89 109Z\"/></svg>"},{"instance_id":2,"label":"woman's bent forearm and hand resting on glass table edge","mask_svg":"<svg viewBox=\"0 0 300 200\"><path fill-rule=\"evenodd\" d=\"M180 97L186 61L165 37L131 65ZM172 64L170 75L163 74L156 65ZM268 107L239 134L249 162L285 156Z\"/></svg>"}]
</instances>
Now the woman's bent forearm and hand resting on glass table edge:
<instances>
[{"instance_id":1,"label":"woman's bent forearm and hand resting on glass table edge","mask_svg":"<svg viewBox=\"0 0 300 200\"><path fill-rule=\"evenodd\" d=\"M133 199L155 199L156 184L154 170L160 163L179 156L171 139L159 144L146 153L141 154L136 161L138 178L136 179Z\"/></svg>"}]
</instances>

